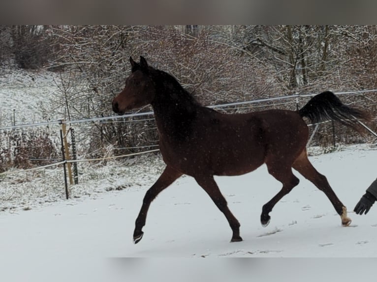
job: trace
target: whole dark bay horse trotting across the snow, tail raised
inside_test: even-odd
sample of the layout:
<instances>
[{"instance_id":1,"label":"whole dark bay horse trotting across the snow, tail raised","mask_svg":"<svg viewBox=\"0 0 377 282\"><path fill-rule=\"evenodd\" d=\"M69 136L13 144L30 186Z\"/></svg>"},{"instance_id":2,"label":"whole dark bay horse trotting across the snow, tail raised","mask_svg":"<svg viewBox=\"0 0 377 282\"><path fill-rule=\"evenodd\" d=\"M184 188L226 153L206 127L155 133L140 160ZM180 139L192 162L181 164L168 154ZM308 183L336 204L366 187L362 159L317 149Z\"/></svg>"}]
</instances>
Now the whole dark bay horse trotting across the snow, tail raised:
<instances>
[{"instance_id":1,"label":"whole dark bay horse trotting across the snow, tail raised","mask_svg":"<svg viewBox=\"0 0 377 282\"><path fill-rule=\"evenodd\" d=\"M283 184L282 189L262 207L262 226L270 222L275 204L299 179L292 168L329 198L348 226L346 206L330 187L326 177L310 163L306 144L309 129L303 117L312 122L332 119L358 130L357 119L368 113L348 107L334 93L315 95L299 111L267 110L255 113L225 114L201 106L170 74L129 58L131 74L126 86L112 101L115 113L152 105L156 118L159 149L166 164L156 183L146 192L133 233L134 243L143 237L147 212L157 195L183 174L192 176L225 215L231 229L231 242L242 241L240 223L227 206L214 175L241 175L266 164L268 172Z\"/></svg>"}]
</instances>

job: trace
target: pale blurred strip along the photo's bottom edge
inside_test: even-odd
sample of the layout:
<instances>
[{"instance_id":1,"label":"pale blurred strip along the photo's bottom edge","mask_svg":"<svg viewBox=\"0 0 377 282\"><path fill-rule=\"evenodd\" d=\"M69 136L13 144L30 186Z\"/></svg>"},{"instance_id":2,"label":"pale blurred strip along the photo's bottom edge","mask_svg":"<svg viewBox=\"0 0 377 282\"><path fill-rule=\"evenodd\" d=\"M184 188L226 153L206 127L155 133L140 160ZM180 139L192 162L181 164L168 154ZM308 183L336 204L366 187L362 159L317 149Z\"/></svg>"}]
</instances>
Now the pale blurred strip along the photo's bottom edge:
<instances>
[{"instance_id":1,"label":"pale blurred strip along the photo's bottom edge","mask_svg":"<svg viewBox=\"0 0 377 282\"><path fill-rule=\"evenodd\" d=\"M33 254L29 254L33 255ZM4 260L5 261L5 260ZM83 258L39 257L2 276L28 282L339 282L374 281L376 258ZM19 261L18 261L19 262ZM9 261L9 265L12 261ZM13 270L13 275L9 271Z\"/></svg>"}]
</instances>

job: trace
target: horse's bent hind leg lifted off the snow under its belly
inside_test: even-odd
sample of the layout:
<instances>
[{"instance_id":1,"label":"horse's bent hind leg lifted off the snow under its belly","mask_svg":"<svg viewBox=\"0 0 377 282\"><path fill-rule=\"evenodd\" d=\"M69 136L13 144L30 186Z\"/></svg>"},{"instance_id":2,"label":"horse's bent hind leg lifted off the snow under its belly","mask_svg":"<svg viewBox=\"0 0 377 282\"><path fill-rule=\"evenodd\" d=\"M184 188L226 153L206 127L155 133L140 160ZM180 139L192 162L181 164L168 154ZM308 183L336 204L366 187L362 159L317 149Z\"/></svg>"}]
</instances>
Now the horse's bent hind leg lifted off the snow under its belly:
<instances>
[{"instance_id":1,"label":"horse's bent hind leg lifted off the snow under its belly","mask_svg":"<svg viewBox=\"0 0 377 282\"><path fill-rule=\"evenodd\" d=\"M270 223L271 217L269 213L272 211L275 204L300 182L300 180L292 173L291 166L287 165L284 161L266 161L266 165L268 172L277 180L283 183L283 188L262 207L260 222L264 227L268 226L268 224Z\"/></svg>"}]
</instances>

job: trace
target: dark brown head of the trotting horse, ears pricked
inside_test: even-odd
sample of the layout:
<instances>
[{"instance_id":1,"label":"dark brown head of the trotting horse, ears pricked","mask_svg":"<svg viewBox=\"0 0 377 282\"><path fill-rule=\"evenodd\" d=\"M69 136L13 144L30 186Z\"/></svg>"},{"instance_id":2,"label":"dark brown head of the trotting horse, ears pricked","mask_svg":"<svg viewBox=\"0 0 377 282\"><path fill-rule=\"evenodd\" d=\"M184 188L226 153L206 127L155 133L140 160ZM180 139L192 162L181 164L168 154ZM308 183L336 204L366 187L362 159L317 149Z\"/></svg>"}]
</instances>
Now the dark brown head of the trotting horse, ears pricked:
<instances>
[{"instance_id":1,"label":"dark brown head of the trotting horse, ears pricked","mask_svg":"<svg viewBox=\"0 0 377 282\"><path fill-rule=\"evenodd\" d=\"M140 56L140 62L137 63L129 57L129 62L132 70L126 79L126 86L113 99L113 111L118 114L151 104L155 97L155 85L145 58Z\"/></svg>"}]
</instances>

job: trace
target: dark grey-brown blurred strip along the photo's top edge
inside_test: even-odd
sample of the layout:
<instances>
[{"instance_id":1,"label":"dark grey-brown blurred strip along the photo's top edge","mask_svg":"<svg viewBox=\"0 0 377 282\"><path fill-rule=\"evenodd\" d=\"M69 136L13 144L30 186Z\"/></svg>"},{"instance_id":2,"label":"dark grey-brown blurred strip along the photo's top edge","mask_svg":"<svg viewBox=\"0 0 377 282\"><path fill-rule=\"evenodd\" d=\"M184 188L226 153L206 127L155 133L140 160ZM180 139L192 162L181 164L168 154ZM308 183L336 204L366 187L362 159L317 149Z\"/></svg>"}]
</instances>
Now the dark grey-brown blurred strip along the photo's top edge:
<instances>
[{"instance_id":1,"label":"dark grey-brown blurred strip along the photo's top edge","mask_svg":"<svg viewBox=\"0 0 377 282\"><path fill-rule=\"evenodd\" d=\"M1 1L10 24L376 24L377 2L271 0Z\"/></svg>"}]
</instances>

